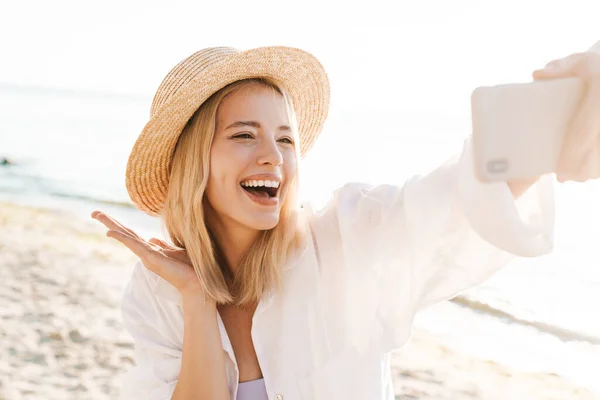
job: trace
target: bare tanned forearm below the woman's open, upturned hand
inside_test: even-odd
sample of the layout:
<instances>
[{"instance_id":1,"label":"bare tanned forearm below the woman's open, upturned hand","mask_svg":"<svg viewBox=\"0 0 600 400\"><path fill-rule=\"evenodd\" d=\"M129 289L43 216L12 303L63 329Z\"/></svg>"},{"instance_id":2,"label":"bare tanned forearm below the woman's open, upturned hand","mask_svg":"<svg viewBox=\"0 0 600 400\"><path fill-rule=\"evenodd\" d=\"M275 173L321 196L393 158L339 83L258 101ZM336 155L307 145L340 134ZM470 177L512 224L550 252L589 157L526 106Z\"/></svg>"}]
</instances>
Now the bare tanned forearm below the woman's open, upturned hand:
<instances>
[{"instance_id":1,"label":"bare tanned forearm below the woman's open, upturned hand","mask_svg":"<svg viewBox=\"0 0 600 400\"><path fill-rule=\"evenodd\" d=\"M183 355L172 399L229 400L217 308L200 297L184 297Z\"/></svg>"}]
</instances>

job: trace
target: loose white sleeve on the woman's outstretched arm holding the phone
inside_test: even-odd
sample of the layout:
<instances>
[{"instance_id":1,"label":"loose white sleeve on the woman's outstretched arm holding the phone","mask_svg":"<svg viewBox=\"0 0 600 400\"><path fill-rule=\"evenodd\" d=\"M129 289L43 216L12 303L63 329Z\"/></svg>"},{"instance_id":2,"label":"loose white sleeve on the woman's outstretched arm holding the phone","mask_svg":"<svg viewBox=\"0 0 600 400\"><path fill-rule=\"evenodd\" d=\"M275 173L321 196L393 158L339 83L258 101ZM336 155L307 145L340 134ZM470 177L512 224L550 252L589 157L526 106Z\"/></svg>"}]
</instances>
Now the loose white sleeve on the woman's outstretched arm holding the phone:
<instances>
[{"instance_id":1,"label":"loose white sleeve on the woman's outstretched arm holding the phone","mask_svg":"<svg viewBox=\"0 0 600 400\"><path fill-rule=\"evenodd\" d=\"M355 337L364 342L360 331L369 329L386 351L399 348L419 309L487 280L516 256L549 253L551 179L515 200L506 183L475 178L467 140L460 157L404 185L339 189L315 223L325 258L333 260L328 247L341 253L329 264L343 265L332 280L350 293Z\"/></svg>"}]
</instances>

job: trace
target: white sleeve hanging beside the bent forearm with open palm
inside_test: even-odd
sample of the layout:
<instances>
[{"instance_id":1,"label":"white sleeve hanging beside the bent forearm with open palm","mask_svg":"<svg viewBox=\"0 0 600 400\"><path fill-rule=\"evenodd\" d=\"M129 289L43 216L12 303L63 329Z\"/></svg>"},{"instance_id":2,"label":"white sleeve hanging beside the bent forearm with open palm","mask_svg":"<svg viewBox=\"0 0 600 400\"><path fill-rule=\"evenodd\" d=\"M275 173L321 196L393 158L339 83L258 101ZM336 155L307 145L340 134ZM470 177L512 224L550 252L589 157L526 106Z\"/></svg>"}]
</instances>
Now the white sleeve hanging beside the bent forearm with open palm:
<instances>
[{"instance_id":1,"label":"white sleeve hanging beside the bent forearm with open palm","mask_svg":"<svg viewBox=\"0 0 600 400\"><path fill-rule=\"evenodd\" d=\"M123 399L170 399L181 370L181 343L170 316L175 303L159 302L153 293L158 280L141 261L125 289L121 312L135 344L136 366L121 377Z\"/></svg>"}]
</instances>

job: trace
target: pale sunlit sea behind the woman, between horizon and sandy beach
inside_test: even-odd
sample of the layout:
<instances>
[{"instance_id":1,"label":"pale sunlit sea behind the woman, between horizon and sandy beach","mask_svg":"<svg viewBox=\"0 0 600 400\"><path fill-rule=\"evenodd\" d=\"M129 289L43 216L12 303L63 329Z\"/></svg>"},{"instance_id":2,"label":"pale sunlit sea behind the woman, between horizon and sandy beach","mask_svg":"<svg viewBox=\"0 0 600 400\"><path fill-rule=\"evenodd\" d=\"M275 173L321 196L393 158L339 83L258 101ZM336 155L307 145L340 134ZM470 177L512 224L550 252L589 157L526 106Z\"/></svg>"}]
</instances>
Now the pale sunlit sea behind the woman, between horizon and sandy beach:
<instances>
[{"instance_id":1,"label":"pale sunlit sea behind the woman, between horizon and sandy beach","mask_svg":"<svg viewBox=\"0 0 600 400\"><path fill-rule=\"evenodd\" d=\"M468 99L467 99L468 100ZM103 210L142 236L159 221L125 189L129 151L151 95L0 84L0 200ZM469 134L467 102L427 110L410 99L352 108L332 101L302 196L317 205L347 181L398 183L444 161ZM524 371L551 372L600 393L600 183L557 184L554 251L516 259L484 284L418 315L416 326L461 351ZM111 240L108 239L107 240Z\"/></svg>"}]
</instances>

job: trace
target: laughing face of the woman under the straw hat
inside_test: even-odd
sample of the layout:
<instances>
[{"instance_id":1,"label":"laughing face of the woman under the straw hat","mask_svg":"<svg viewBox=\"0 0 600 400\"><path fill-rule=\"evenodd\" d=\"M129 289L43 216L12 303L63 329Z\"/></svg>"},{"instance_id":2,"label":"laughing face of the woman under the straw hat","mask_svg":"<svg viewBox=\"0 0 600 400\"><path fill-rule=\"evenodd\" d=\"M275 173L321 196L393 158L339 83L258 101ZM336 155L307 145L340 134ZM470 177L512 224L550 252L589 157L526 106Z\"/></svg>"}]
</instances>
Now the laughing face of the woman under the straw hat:
<instances>
[{"instance_id":1,"label":"laughing face of the woman under the straw hat","mask_svg":"<svg viewBox=\"0 0 600 400\"><path fill-rule=\"evenodd\" d=\"M275 227L296 174L295 146L282 95L260 84L227 95L206 190L214 222L227 230Z\"/></svg>"}]
</instances>

